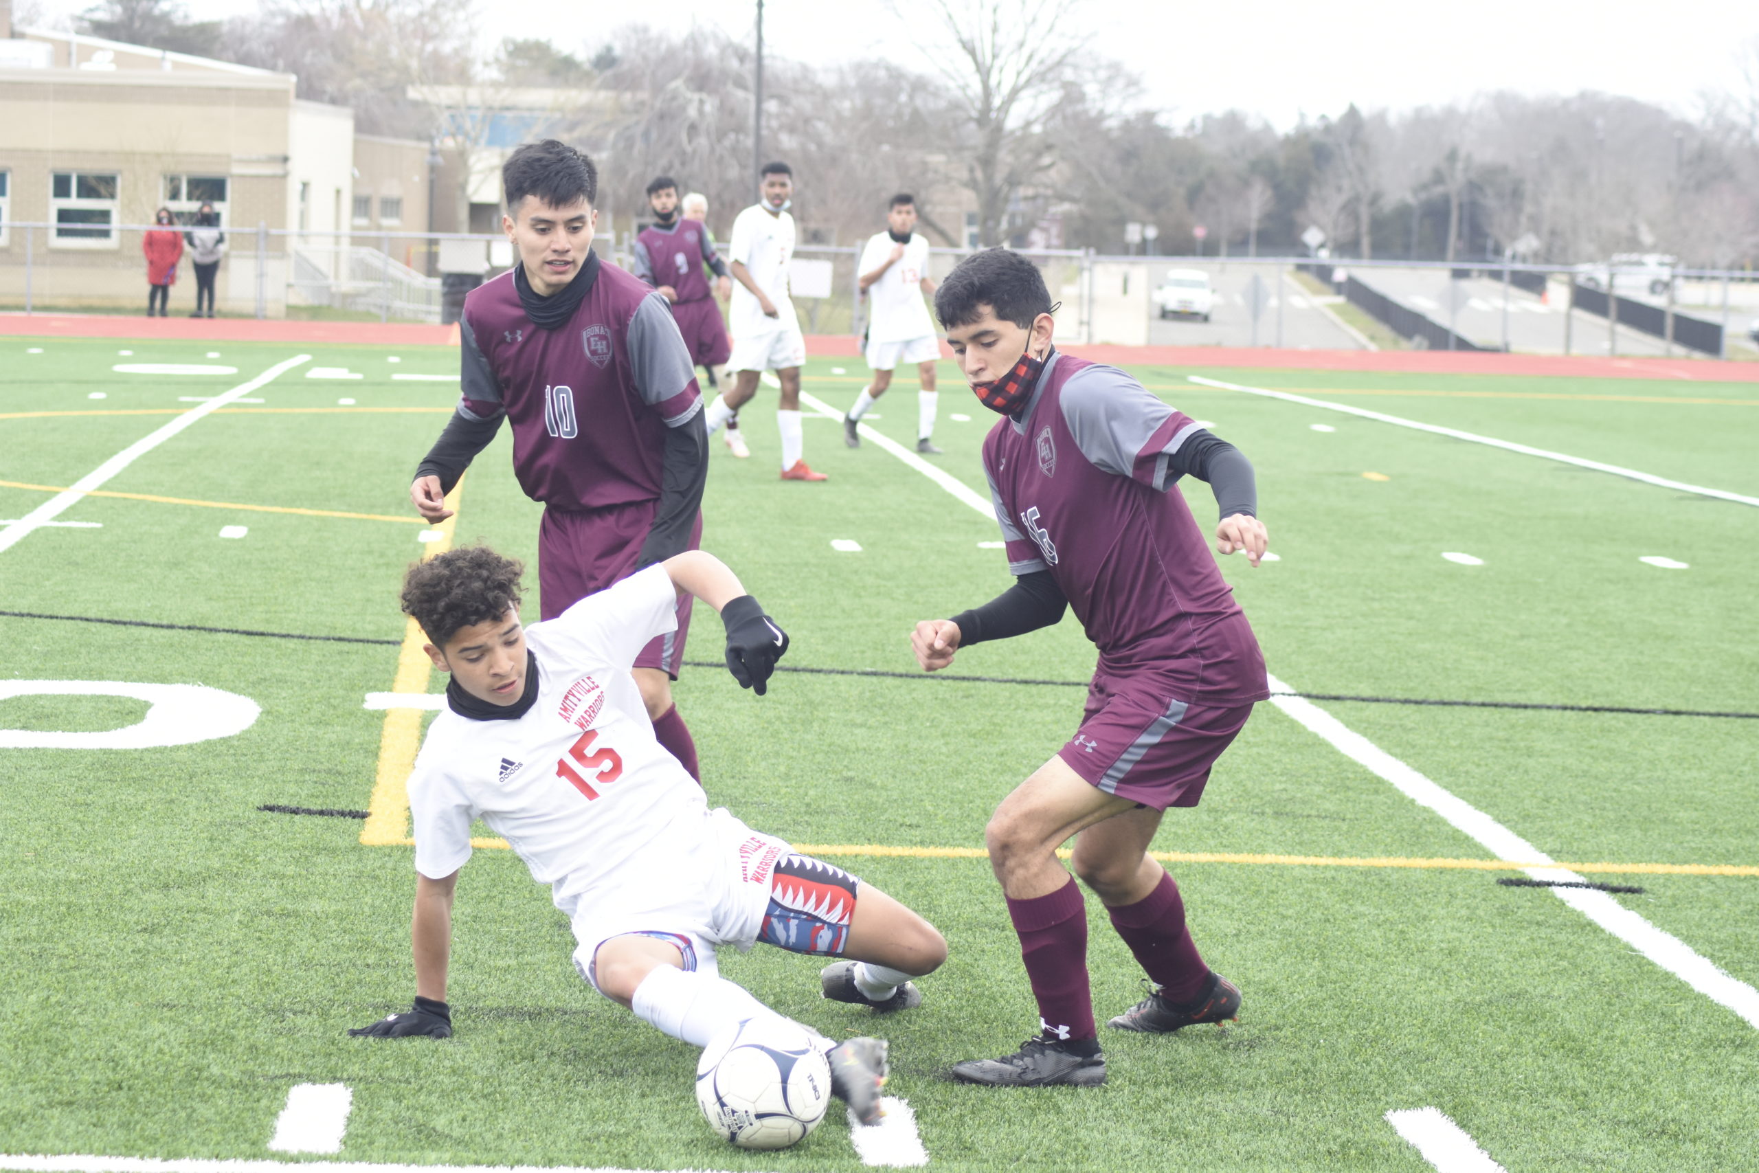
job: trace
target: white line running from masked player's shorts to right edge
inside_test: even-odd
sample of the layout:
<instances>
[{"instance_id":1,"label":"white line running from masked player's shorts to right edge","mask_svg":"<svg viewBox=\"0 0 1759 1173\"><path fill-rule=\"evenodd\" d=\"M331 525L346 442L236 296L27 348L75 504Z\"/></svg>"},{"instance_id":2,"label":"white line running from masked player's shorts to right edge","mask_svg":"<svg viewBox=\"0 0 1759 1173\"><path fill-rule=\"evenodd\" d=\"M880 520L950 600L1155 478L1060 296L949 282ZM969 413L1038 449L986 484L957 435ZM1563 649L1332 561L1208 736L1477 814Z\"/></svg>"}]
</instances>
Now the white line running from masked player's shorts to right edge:
<instances>
[{"instance_id":1,"label":"white line running from masked player's shorts to right edge","mask_svg":"<svg viewBox=\"0 0 1759 1173\"><path fill-rule=\"evenodd\" d=\"M1277 677L1270 677L1270 691L1295 693L1298 689L1284 684ZM1463 798L1455 797L1448 790L1442 790L1430 779L1423 777L1361 733L1346 728L1342 721L1310 700L1275 695L1270 698L1270 703L1293 718L1307 732L1317 733L1325 740L1332 742L1332 746L1346 758L1351 758L1353 761L1367 767L1377 777L1397 786L1400 793L1418 805L1428 807L1435 814L1448 820L1455 830L1476 839L1492 853L1492 856L1499 860L1536 860L1539 863L1551 863L1550 855L1532 846ZM1522 871L1534 879L1544 879L1550 883L1587 883L1581 876L1566 867L1523 867ZM1622 906L1606 892L1594 892L1590 888L1546 888L1546 892L1710 1001L1727 1006L1736 1015L1745 1018L1748 1025L1759 1027L1759 990L1738 978L1729 976L1713 962L1694 951L1685 941L1662 932L1645 918Z\"/></svg>"}]
</instances>

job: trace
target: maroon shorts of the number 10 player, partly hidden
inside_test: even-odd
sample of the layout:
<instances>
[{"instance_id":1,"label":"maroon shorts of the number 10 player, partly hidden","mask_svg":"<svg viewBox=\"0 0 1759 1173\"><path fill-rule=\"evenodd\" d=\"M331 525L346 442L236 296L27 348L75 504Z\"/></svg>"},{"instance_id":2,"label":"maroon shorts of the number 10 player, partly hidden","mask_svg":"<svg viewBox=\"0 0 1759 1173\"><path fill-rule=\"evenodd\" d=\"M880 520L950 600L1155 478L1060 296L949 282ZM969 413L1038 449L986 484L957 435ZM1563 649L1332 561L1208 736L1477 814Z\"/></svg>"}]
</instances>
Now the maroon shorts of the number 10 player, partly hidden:
<instances>
[{"instance_id":1,"label":"maroon shorts of the number 10 player, partly hidden","mask_svg":"<svg viewBox=\"0 0 1759 1173\"><path fill-rule=\"evenodd\" d=\"M554 619L595 591L603 591L635 570L642 542L653 528L658 501L612 505L598 510L563 510L544 506L538 522L538 616ZM690 549L702 543L702 514L690 531ZM654 637L635 668L665 668L677 679L684 663L684 637L690 635L690 594L677 600L677 631Z\"/></svg>"}]
</instances>

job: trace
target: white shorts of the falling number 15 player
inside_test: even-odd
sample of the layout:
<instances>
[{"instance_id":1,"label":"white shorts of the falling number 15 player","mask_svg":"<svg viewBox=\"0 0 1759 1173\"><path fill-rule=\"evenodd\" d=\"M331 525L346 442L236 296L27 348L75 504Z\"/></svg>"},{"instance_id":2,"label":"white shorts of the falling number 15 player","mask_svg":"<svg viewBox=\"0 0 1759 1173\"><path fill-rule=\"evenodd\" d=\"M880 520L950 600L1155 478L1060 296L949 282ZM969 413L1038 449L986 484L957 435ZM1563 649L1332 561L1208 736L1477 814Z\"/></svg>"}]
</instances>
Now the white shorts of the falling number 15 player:
<instances>
[{"instance_id":1,"label":"white shorts of the falling number 15 player","mask_svg":"<svg viewBox=\"0 0 1759 1173\"><path fill-rule=\"evenodd\" d=\"M573 967L595 990L593 957L612 937L642 934L670 941L684 955L684 969L711 974L718 973L718 946L730 944L744 953L756 943L776 862L793 848L785 839L751 830L725 807L711 811L709 821L714 825L716 858L711 874L690 895L677 895L674 888L653 899L626 888L575 913L573 939L580 944L573 951Z\"/></svg>"}]
</instances>

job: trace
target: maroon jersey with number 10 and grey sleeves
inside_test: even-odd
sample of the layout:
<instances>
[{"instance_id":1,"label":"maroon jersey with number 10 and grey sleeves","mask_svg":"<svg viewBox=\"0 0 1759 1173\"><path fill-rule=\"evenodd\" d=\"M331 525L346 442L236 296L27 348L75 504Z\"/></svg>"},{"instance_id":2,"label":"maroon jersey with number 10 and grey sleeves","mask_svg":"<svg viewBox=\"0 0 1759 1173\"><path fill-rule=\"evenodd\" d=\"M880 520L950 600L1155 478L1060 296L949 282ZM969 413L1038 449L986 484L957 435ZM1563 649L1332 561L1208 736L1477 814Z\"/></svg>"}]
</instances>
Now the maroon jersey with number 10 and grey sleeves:
<instances>
[{"instance_id":1,"label":"maroon jersey with number 10 and grey sleeves","mask_svg":"<svg viewBox=\"0 0 1759 1173\"><path fill-rule=\"evenodd\" d=\"M568 510L658 501L667 427L702 410L665 299L616 266L596 269L559 329L533 325L512 273L471 290L459 322L459 413L505 412L519 485Z\"/></svg>"}]
</instances>

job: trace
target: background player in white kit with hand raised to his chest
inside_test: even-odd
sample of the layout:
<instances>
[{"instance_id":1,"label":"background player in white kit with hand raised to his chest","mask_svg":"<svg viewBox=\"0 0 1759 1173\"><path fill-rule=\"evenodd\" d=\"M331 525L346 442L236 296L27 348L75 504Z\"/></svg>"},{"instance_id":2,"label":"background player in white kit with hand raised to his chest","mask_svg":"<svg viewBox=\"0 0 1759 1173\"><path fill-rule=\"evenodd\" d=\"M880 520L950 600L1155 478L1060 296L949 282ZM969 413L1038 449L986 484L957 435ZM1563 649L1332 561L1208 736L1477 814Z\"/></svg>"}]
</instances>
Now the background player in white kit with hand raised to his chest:
<instances>
[{"instance_id":1,"label":"background player in white kit with hand raised to his chest","mask_svg":"<svg viewBox=\"0 0 1759 1173\"><path fill-rule=\"evenodd\" d=\"M887 209L887 230L876 232L862 250L862 290L867 292L867 368L874 373L871 383L855 396L855 406L843 417L843 441L862 447L855 429L874 399L892 385L892 371L899 362L915 362L922 376L916 392L916 452L939 452L934 447L934 364L941 357L941 341L934 336L934 320L922 295L934 294L929 280L929 237L916 236L916 197L899 192Z\"/></svg>"}]
</instances>

